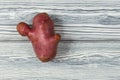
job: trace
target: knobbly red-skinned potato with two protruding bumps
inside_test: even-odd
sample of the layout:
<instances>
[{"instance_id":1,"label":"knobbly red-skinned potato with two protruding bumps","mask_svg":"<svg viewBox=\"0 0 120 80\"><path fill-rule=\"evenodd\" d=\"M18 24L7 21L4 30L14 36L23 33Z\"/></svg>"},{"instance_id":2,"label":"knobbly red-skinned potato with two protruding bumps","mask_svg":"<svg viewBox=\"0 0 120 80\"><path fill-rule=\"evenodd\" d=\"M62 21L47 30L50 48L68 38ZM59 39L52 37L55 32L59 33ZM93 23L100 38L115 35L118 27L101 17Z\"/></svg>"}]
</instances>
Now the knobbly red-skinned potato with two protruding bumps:
<instances>
[{"instance_id":1,"label":"knobbly red-skinned potato with two protruding bumps","mask_svg":"<svg viewBox=\"0 0 120 80\"><path fill-rule=\"evenodd\" d=\"M57 53L57 45L61 39L55 34L54 23L47 13L39 13L33 18L32 28L24 22L17 25L17 31L27 36L32 42L38 59L42 62L52 60Z\"/></svg>"}]
</instances>

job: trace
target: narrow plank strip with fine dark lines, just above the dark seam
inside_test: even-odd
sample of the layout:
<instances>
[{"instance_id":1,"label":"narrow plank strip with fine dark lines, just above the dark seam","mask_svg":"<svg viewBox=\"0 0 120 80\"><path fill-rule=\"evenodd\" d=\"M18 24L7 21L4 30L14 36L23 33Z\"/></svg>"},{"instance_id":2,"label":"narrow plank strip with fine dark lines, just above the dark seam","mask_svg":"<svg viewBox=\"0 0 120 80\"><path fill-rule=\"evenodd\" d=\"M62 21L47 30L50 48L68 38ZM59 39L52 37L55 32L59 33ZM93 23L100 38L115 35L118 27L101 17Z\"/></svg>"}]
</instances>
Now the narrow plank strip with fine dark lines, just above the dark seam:
<instances>
[{"instance_id":1,"label":"narrow plank strip with fine dark lines, just above the dark seam","mask_svg":"<svg viewBox=\"0 0 120 80\"><path fill-rule=\"evenodd\" d=\"M120 28L112 25L55 26L62 40L120 40ZM16 31L16 26L0 26L0 41L28 40Z\"/></svg>"}]
</instances>

